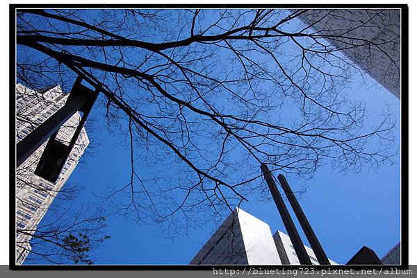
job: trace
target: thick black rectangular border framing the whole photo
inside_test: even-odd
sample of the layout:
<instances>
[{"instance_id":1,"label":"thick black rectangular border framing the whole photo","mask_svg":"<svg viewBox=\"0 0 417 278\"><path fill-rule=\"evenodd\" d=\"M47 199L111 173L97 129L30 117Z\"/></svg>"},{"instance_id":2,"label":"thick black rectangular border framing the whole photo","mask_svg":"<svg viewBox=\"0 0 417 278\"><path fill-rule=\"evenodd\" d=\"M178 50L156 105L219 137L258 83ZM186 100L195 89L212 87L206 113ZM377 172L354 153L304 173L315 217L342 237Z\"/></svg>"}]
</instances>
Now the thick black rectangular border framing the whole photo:
<instances>
[{"instance_id":1,"label":"thick black rectangular border framing the whole photo","mask_svg":"<svg viewBox=\"0 0 417 278\"><path fill-rule=\"evenodd\" d=\"M396 8L401 10L401 265L250 266L262 270L409 269L409 8L407 4L10 4L9 5L9 269L10 270L246 270L237 265L23 265L15 263L15 11L22 8ZM311 272L310 272L311 273ZM304 274L304 273L301 273ZM306 273L305 273L306 274Z\"/></svg>"}]
</instances>

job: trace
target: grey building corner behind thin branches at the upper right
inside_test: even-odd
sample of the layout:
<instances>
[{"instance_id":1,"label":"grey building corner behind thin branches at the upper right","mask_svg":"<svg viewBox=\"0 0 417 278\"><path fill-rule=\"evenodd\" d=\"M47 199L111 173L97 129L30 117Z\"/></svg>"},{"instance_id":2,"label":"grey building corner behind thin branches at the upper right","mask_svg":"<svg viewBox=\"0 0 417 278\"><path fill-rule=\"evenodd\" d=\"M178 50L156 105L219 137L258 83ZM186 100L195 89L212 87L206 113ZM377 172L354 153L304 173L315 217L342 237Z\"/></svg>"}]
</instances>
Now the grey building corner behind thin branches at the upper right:
<instances>
[{"instance_id":1,"label":"grey building corner behind thin branches at the upper right","mask_svg":"<svg viewBox=\"0 0 417 278\"><path fill-rule=\"evenodd\" d=\"M329 35L330 44L400 98L400 12L312 9L299 18L316 33Z\"/></svg>"}]
</instances>

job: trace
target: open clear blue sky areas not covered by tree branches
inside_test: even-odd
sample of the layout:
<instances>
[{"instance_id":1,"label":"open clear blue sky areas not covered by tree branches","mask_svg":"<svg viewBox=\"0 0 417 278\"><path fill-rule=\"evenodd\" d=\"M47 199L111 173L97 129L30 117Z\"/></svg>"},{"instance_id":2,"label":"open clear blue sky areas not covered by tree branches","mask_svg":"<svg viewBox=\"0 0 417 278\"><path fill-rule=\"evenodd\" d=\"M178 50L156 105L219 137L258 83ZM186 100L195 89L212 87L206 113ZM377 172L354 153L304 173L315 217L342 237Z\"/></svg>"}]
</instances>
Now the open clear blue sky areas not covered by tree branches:
<instances>
[{"instance_id":1,"label":"open clear blue sky areas not covered by tree branches","mask_svg":"<svg viewBox=\"0 0 417 278\"><path fill-rule=\"evenodd\" d=\"M385 104L395 116L395 142L400 142L400 101L386 89L363 85L361 78L352 76L346 94L354 100L366 101L368 121L379 119ZM103 121L103 110L98 103L91 118ZM97 125L96 125L97 126ZM79 203L99 202L92 192L99 193L106 184L127 184L130 178L130 150L120 144L106 129L87 130L98 141L85 155L67 181L84 184L85 192ZM95 142L93 142L95 143ZM307 186L300 205L309 218L327 256L337 263L345 263L363 245L382 257L400 241L400 157L398 164L384 164L377 171L355 174L333 172L323 166L313 180L290 180L294 190ZM250 197L250 196L249 196ZM288 203L287 203L288 205ZM74 207L75 209L75 207ZM270 225L272 233L285 231L275 203L258 202L250 198L243 206L245 211ZM45 216L47 220L48 214ZM295 218L295 217L294 217ZM188 235L167 238L158 226L140 225L131 219L109 216L105 233L111 238L92 253L96 264L187 264L213 233L213 223L191 229ZM302 230L299 227L300 234ZM304 238L306 245L307 241ZM29 255L31 256L31 255Z\"/></svg>"}]
</instances>

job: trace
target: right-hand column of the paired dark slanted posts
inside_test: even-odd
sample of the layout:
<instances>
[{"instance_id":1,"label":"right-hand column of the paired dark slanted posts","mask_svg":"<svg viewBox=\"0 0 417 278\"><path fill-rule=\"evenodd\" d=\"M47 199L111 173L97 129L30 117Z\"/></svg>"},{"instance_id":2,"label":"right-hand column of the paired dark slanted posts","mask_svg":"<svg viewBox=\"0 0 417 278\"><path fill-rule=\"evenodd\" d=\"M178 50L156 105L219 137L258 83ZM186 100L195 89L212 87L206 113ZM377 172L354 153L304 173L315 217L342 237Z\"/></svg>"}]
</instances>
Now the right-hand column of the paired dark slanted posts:
<instances>
[{"instance_id":1,"label":"right-hand column of the paired dark slanted posts","mask_svg":"<svg viewBox=\"0 0 417 278\"><path fill-rule=\"evenodd\" d=\"M309 220L307 220L306 216L304 215L304 212L302 211L300 204L297 202L297 199L295 198L294 193L291 190L291 187L286 181L284 175L279 174L278 180L281 184L282 189L284 189L284 193L286 194L291 207L293 207L295 216L297 216L297 219L300 222L300 225L302 227L302 230L304 231L304 234L306 235L306 238L309 240L314 254L316 254L318 262L320 263L320 265L329 265L329 259L327 259L325 251L321 247L320 242L316 237L316 234L314 234L313 228L311 228Z\"/></svg>"}]
</instances>

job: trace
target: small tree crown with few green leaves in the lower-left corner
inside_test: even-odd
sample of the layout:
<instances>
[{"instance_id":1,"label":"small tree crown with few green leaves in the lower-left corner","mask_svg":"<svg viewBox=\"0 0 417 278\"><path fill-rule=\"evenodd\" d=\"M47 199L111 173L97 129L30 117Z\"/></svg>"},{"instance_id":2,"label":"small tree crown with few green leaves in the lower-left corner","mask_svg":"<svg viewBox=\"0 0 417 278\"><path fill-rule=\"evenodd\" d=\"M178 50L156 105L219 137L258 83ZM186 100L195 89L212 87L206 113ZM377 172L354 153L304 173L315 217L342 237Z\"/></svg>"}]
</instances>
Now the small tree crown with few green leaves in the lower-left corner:
<instances>
[{"instance_id":1,"label":"small tree crown with few green leaves in the lower-left corner","mask_svg":"<svg viewBox=\"0 0 417 278\"><path fill-rule=\"evenodd\" d=\"M67 202L67 200L65 200ZM92 264L90 252L100 247L110 236L103 212L92 207L77 211L55 200L48 209L48 218L35 229L17 227L16 247L30 251L25 263Z\"/></svg>"}]
</instances>

